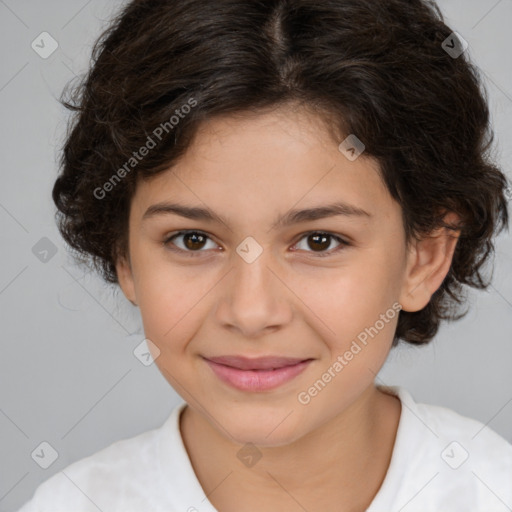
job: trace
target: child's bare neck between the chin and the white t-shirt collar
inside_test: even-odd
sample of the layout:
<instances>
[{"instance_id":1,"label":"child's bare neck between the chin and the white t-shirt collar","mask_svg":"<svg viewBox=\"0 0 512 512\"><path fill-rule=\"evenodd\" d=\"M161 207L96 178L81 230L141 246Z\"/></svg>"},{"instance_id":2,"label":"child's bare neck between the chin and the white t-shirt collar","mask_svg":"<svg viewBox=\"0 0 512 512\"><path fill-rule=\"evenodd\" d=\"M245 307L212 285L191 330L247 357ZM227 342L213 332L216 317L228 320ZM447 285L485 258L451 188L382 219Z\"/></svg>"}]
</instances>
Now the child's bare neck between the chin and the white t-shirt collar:
<instances>
[{"instance_id":1,"label":"child's bare neck between the chin and the white t-shirt collar","mask_svg":"<svg viewBox=\"0 0 512 512\"><path fill-rule=\"evenodd\" d=\"M258 447L262 457L248 468L236 457L241 445L190 406L180 428L198 480L221 512L299 510L297 503L306 510L322 504L324 511L345 511L366 509L380 488L399 417L398 398L372 383L349 408L300 439Z\"/></svg>"}]
</instances>

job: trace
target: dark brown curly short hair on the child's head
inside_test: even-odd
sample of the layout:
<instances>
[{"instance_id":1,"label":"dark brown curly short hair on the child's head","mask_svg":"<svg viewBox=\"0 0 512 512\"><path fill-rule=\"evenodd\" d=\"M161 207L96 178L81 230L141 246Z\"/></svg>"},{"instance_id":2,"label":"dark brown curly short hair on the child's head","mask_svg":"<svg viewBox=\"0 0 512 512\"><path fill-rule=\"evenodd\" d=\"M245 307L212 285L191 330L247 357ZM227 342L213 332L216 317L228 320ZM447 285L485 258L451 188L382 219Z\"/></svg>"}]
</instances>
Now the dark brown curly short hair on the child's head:
<instances>
[{"instance_id":1,"label":"dark brown curly short hair on the child's head","mask_svg":"<svg viewBox=\"0 0 512 512\"><path fill-rule=\"evenodd\" d=\"M62 236L117 283L139 179L176 162L204 120L298 105L334 140L364 142L408 241L443 225L444 212L461 219L446 278L421 311L401 311L393 340L428 343L442 319L466 314L463 285L489 285L483 265L508 227L486 91L468 52L448 53L461 41L451 34L427 0L128 3L61 97L74 112L53 188Z\"/></svg>"}]
</instances>

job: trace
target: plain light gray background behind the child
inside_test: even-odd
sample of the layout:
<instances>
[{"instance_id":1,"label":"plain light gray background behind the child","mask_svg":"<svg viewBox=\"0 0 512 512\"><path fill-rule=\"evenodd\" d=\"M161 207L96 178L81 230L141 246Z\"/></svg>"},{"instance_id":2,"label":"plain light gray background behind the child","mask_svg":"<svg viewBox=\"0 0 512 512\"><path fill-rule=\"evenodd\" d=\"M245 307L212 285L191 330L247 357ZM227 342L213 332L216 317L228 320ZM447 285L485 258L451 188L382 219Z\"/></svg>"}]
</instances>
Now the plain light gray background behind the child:
<instances>
[{"instance_id":1,"label":"plain light gray background behind the child","mask_svg":"<svg viewBox=\"0 0 512 512\"><path fill-rule=\"evenodd\" d=\"M67 119L57 98L86 69L93 41L121 4L0 0L4 512L16 510L39 483L71 462L160 426L179 401L158 369L133 354L144 338L138 310L74 265L53 219L50 192ZM510 179L512 1L439 5L485 72L497 156ZM31 48L43 31L59 44L47 59ZM41 242L44 237L52 245ZM56 254L45 256L41 251L51 246ZM450 407L512 441L510 234L498 239L493 285L488 292L472 292L470 304L469 315L443 326L430 346L393 351L377 382L403 385L417 401ZM59 454L48 469L31 457L42 441Z\"/></svg>"}]
</instances>

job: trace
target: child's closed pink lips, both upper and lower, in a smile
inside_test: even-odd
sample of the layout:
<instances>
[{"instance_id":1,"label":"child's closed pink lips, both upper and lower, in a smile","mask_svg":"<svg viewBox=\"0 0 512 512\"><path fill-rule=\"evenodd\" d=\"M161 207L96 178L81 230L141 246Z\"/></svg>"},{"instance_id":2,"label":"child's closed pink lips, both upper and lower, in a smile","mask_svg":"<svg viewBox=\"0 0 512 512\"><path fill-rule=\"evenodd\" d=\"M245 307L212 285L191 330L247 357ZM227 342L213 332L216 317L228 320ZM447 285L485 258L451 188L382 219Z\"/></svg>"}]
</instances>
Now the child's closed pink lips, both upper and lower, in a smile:
<instances>
[{"instance_id":1,"label":"child's closed pink lips, both upper and lower, in a smile","mask_svg":"<svg viewBox=\"0 0 512 512\"><path fill-rule=\"evenodd\" d=\"M223 382L242 391L276 388L299 375L312 359L240 356L210 357L206 362Z\"/></svg>"}]
</instances>

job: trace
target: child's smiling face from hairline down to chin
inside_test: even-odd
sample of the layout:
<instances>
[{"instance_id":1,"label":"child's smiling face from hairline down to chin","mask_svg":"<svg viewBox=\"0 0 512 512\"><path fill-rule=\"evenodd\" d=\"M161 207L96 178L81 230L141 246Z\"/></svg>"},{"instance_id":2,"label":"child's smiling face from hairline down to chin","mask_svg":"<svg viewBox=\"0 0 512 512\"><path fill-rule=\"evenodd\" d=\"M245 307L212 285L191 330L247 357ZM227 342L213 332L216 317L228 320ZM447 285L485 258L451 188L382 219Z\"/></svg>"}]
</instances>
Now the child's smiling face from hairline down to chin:
<instances>
[{"instance_id":1,"label":"child's smiling face from hairline down to chin","mask_svg":"<svg viewBox=\"0 0 512 512\"><path fill-rule=\"evenodd\" d=\"M418 282L436 288L377 163L350 161L340 142L302 111L219 118L132 200L122 289L165 378L239 443L293 442L356 403L388 355L397 305L423 307L409 293ZM219 356L308 362L271 387L276 370L230 373L207 361Z\"/></svg>"}]
</instances>

